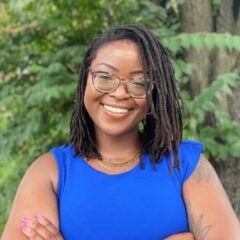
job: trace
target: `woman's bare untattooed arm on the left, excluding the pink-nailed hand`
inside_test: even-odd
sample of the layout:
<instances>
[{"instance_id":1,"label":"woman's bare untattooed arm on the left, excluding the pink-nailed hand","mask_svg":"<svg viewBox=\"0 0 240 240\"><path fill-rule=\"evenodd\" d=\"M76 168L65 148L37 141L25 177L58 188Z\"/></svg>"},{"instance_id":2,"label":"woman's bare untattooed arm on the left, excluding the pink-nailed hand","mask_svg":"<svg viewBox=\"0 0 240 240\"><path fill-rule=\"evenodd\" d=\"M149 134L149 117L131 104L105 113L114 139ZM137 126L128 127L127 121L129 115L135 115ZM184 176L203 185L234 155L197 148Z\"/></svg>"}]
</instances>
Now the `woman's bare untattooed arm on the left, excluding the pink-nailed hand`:
<instances>
[{"instance_id":1,"label":"woman's bare untattooed arm on the left, excluding the pink-nailed hand","mask_svg":"<svg viewBox=\"0 0 240 240\"><path fill-rule=\"evenodd\" d=\"M50 153L31 165L19 185L2 240L28 239L21 222L24 217L34 219L37 212L43 213L58 229L57 175L56 162Z\"/></svg>"}]
</instances>

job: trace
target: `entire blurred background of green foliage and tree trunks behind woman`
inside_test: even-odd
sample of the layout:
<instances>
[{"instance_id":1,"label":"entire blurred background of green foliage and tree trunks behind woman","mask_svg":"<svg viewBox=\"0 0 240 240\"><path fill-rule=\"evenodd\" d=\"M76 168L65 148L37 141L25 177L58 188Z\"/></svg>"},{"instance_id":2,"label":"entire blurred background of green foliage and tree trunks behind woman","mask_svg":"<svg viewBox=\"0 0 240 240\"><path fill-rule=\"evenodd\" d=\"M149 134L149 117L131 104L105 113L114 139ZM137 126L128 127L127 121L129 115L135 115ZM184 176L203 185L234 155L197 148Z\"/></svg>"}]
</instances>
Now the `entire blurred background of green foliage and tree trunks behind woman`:
<instances>
[{"instance_id":1,"label":"entire blurred background of green foliage and tree trunks behind woman","mask_svg":"<svg viewBox=\"0 0 240 240\"><path fill-rule=\"evenodd\" d=\"M240 216L239 0L2 0L0 234L20 179L66 143L85 46L111 26L150 28L172 53L184 138L205 143Z\"/></svg>"}]
</instances>

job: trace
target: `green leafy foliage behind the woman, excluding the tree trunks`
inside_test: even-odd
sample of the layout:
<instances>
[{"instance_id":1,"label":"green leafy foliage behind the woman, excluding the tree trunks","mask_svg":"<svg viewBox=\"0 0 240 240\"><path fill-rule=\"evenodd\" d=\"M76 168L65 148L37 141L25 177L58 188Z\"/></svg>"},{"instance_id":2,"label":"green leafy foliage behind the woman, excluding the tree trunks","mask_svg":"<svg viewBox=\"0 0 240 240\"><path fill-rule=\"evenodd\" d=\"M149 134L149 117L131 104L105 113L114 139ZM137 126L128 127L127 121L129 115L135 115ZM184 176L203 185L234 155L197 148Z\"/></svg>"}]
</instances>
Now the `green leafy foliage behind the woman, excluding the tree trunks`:
<instances>
[{"instance_id":1,"label":"green leafy foliage behind the woman, excluding the tree trunks","mask_svg":"<svg viewBox=\"0 0 240 240\"><path fill-rule=\"evenodd\" d=\"M189 48L240 52L240 38L181 33L181 2L169 1L164 8L144 0L0 3L0 233L27 167L49 148L67 141L85 46L110 26L139 23L149 27L173 53L185 103L184 137L205 142L206 154L214 159L240 156L240 137L234 130L239 125L214 104L221 92L232 94L239 75L218 76L193 98L185 86L196 66L183 59ZM205 124L209 112L218 119L215 127Z\"/></svg>"}]
</instances>

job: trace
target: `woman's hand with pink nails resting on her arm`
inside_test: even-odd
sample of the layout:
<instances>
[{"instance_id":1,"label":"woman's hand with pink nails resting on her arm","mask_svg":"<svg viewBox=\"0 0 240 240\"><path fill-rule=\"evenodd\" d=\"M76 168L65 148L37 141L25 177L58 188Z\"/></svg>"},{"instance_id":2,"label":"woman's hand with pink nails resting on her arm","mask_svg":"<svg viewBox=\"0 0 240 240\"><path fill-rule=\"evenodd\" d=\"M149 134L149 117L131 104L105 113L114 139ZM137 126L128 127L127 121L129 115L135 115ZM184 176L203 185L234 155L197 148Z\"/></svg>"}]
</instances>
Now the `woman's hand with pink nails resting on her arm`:
<instances>
[{"instance_id":1,"label":"woman's hand with pink nails resting on her arm","mask_svg":"<svg viewBox=\"0 0 240 240\"><path fill-rule=\"evenodd\" d=\"M40 213L36 214L34 220L23 218L21 229L30 240L64 240L58 229Z\"/></svg>"}]
</instances>

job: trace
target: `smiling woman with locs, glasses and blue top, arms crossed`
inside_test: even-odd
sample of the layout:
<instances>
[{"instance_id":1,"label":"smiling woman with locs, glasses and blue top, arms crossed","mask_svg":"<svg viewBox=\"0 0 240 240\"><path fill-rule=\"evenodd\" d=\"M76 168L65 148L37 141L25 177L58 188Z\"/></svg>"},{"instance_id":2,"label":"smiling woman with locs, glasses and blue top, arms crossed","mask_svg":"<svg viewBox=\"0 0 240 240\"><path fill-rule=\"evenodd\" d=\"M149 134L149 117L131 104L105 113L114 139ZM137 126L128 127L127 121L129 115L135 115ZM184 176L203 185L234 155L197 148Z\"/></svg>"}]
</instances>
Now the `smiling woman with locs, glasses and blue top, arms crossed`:
<instances>
[{"instance_id":1,"label":"smiling woman with locs, glasses and blue top, arms crossed","mask_svg":"<svg viewBox=\"0 0 240 240\"><path fill-rule=\"evenodd\" d=\"M182 141L181 106L168 53L147 29L96 38L70 141L29 168L2 239L240 239L202 144Z\"/></svg>"}]
</instances>

